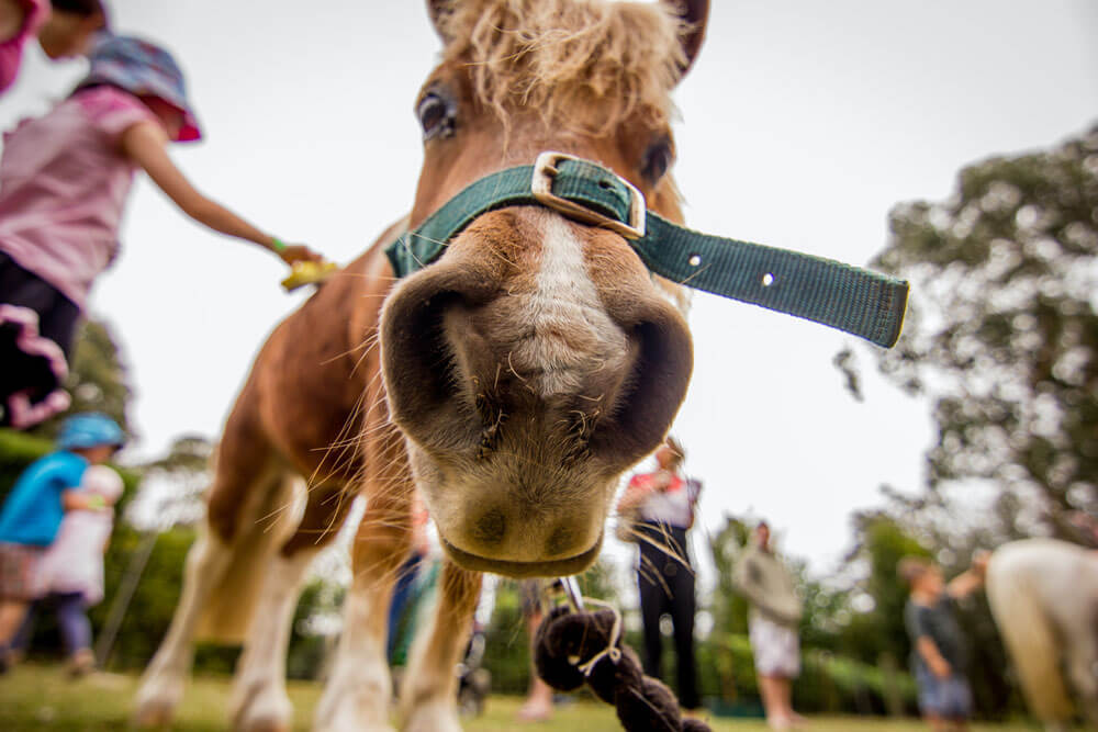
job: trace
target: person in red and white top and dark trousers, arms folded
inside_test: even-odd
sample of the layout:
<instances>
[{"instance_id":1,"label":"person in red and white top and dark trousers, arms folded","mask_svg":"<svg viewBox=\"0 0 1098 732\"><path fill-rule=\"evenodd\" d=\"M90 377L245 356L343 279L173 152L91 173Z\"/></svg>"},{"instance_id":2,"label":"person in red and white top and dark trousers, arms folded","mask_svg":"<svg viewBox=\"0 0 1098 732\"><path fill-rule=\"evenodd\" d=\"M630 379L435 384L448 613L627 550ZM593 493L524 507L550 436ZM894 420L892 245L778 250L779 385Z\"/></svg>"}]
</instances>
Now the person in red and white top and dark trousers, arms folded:
<instances>
[{"instance_id":1,"label":"person in red and white top and dark trousers, arms folded","mask_svg":"<svg viewBox=\"0 0 1098 732\"><path fill-rule=\"evenodd\" d=\"M682 475L684 458L682 446L669 437L656 450L657 469L629 480L617 511L629 523L626 532L640 547L637 584L645 626L645 673L661 677L660 619L670 615L677 658L679 703L683 709L694 710L701 706L701 697L694 657L694 566L687 532L694 526L702 484Z\"/></svg>"}]
</instances>

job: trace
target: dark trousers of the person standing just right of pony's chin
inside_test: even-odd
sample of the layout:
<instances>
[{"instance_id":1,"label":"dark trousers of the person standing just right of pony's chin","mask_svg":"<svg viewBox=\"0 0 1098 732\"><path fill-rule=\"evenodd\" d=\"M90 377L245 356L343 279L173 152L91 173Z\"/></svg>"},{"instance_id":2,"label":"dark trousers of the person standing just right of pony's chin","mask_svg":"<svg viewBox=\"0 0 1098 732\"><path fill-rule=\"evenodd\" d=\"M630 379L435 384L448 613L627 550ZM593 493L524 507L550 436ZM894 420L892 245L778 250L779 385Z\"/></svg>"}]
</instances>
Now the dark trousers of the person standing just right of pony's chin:
<instances>
[{"instance_id":1,"label":"dark trousers of the person standing just right of pony's chin","mask_svg":"<svg viewBox=\"0 0 1098 732\"><path fill-rule=\"evenodd\" d=\"M660 660L663 638L660 618L671 616L674 627L675 658L679 671L679 703L683 709L701 706L697 691L697 662L694 657L694 568L686 551L686 530L677 527L641 523L640 531L654 542L641 539L640 615L645 623L645 673L662 678ZM666 553L662 547L673 550Z\"/></svg>"}]
</instances>

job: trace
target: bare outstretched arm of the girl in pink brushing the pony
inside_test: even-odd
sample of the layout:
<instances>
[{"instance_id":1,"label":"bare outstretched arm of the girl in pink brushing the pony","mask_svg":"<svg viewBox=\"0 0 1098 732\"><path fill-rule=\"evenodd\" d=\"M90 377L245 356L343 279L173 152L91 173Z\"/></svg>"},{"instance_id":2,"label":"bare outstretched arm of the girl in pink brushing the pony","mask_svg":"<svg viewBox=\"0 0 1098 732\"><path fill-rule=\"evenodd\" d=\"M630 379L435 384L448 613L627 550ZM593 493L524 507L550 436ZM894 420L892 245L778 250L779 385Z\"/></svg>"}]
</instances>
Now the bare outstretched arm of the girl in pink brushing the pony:
<instances>
[{"instance_id":1,"label":"bare outstretched arm of the girl in pink brushing the pony","mask_svg":"<svg viewBox=\"0 0 1098 732\"><path fill-rule=\"evenodd\" d=\"M180 211L215 232L254 241L277 254L282 261L320 261L322 257L301 245L282 245L269 234L244 221L216 201L195 189L168 157L168 135L155 122L138 122L121 137L122 150L141 166L153 182L171 199Z\"/></svg>"}]
</instances>

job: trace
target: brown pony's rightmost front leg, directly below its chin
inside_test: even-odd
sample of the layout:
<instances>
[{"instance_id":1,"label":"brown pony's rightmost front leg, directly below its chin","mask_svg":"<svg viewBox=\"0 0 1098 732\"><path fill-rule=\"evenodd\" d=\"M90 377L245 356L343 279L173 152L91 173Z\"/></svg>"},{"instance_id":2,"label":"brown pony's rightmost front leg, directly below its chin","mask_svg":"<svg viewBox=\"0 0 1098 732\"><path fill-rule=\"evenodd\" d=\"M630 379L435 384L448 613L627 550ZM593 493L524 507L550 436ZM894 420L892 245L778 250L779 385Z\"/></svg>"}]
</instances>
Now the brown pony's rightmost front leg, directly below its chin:
<instances>
[{"instance_id":1,"label":"brown pony's rightmost front leg, directly below its chin","mask_svg":"<svg viewBox=\"0 0 1098 732\"><path fill-rule=\"evenodd\" d=\"M458 662L469 643L481 575L450 562L442 566L430 626L416 639L401 689L404 732L460 732Z\"/></svg>"}]
</instances>

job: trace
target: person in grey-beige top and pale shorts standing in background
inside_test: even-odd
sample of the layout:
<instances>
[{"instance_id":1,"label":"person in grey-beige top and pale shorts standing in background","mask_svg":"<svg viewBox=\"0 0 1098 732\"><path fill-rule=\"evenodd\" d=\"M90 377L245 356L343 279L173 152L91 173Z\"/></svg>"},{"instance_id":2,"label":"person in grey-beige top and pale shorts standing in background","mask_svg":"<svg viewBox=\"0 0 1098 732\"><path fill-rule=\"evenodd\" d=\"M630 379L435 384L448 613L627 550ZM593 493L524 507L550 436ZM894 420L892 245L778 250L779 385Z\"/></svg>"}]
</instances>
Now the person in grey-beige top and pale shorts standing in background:
<instances>
[{"instance_id":1,"label":"person in grey-beige top and pale shorts standing in background","mask_svg":"<svg viewBox=\"0 0 1098 732\"><path fill-rule=\"evenodd\" d=\"M774 554L770 526L760 521L754 537L732 571L732 582L751 604L748 617L759 694L773 730L787 730L804 722L793 711L793 679L800 675L800 624L803 607L793 575Z\"/></svg>"}]
</instances>

